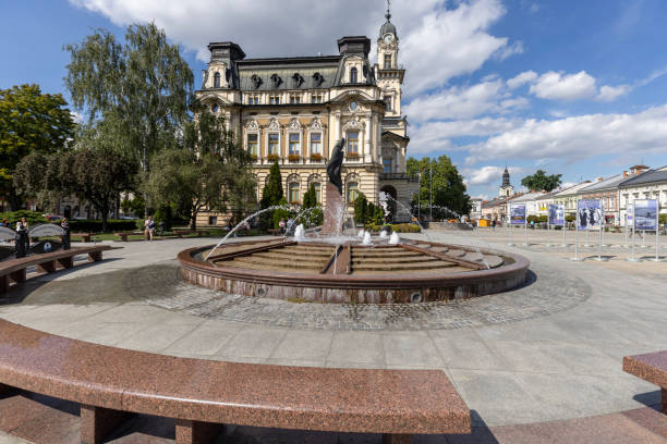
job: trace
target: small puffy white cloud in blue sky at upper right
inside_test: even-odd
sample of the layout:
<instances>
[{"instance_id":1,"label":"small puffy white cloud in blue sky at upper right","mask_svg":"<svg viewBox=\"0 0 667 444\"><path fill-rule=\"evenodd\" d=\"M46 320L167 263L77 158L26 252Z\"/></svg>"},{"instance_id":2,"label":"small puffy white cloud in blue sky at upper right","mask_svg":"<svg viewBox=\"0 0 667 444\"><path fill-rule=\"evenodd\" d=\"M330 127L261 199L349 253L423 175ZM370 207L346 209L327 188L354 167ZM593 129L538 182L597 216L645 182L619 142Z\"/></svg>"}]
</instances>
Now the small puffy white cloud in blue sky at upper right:
<instances>
[{"instance_id":1,"label":"small puffy white cloud in blue sky at upper right","mask_svg":"<svg viewBox=\"0 0 667 444\"><path fill-rule=\"evenodd\" d=\"M566 74L549 71L531 85L531 92L542 99L575 100L595 96L595 78L585 71Z\"/></svg>"}]
</instances>

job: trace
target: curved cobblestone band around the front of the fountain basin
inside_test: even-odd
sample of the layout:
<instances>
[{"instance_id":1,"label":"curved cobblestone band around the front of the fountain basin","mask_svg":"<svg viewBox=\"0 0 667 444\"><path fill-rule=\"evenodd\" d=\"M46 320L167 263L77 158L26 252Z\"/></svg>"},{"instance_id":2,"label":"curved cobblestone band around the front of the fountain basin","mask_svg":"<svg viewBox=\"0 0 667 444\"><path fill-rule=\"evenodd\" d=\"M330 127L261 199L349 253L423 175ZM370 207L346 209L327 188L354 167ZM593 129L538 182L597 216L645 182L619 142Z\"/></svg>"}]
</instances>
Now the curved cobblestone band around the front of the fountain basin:
<instances>
[{"instance_id":1,"label":"curved cobblestone band around the front of the fountain basin","mask_svg":"<svg viewBox=\"0 0 667 444\"><path fill-rule=\"evenodd\" d=\"M178 264L125 271L123 291L146 304L206 318L313 330L439 330L549 316L591 295L582 280L533 267L526 284L500 295L422 304L294 304L230 295L184 283ZM539 279L536 279L539 275Z\"/></svg>"}]
</instances>

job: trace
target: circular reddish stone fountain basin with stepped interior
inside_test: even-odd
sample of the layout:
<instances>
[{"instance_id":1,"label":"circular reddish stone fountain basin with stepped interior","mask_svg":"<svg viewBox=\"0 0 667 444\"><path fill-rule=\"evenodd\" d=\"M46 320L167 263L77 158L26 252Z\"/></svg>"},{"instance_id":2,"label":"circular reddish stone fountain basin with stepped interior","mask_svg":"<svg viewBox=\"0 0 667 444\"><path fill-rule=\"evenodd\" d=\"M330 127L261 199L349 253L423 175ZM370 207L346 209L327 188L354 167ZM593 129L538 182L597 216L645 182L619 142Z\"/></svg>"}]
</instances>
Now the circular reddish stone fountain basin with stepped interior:
<instances>
[{"instance_id":1,"label":"circular reddish stone fountain basin with stepped interior","mask_svg":"<svg viewBox=\"0 0 667 444\"><path fill-rule=\"evenodd\" d=\"M464 299L522 285L529 260L470 246L401 240L343 245L252 240L179 254L181 276L229 294L293 301L396 304Z\"/></svg>"}]
</instances>

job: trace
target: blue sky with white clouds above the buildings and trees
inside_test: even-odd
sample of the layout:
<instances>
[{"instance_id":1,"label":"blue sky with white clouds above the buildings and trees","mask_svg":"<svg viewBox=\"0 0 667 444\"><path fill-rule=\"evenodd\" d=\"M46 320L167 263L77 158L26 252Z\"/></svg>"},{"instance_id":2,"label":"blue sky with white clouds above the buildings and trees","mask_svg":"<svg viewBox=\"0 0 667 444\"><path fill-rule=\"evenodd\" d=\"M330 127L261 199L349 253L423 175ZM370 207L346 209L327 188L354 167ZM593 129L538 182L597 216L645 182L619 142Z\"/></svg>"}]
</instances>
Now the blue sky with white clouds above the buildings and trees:
<instances>
[{"instance_id":1,"label":"blue sky with white clouds above the buildings and trees","mask_svg":"<svg viewBox=\"0 0 667 444\"><path fill-rule=\"evenodd\" d=\"M315 5L313 8L313 5ZM63 92L62 50L92 28L122 37L155 21L196 79L208 41L248 57L336 53L336 39L377 38L381 0L71 0L2 3L0 87ZM393 0L409 153L452 158L473 196L493 197L537 168L563 182L667 164L667 2L663 0ZM374 54L375 48L372 53Z\"/></svg>"}]
</instances>

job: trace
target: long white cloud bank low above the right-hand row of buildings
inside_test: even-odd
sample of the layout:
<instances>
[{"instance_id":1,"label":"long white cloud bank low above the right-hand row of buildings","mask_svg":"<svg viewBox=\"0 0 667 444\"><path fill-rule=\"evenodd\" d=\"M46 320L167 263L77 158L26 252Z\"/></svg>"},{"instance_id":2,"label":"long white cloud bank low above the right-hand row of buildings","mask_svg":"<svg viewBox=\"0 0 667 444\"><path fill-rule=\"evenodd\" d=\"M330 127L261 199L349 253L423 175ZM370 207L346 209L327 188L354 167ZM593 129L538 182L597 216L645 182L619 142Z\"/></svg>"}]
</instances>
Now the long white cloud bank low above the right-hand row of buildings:
<instances>
[{"instance_id":1,"label":"long white cloud bank low above the right-hand row of buildings","mask_svg":"<svg viewBox=\"0 0 667 444\"><path fill-rule=\"evenodd\" d=\"M531 119L469 149L468 164L489 159L571 162L623 152L664 153L667 104L636 114L587 114L554 121Z\"/></svg>"}]
</instances>

